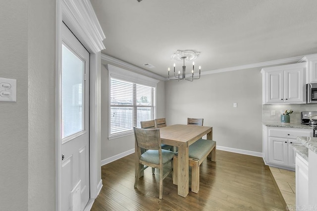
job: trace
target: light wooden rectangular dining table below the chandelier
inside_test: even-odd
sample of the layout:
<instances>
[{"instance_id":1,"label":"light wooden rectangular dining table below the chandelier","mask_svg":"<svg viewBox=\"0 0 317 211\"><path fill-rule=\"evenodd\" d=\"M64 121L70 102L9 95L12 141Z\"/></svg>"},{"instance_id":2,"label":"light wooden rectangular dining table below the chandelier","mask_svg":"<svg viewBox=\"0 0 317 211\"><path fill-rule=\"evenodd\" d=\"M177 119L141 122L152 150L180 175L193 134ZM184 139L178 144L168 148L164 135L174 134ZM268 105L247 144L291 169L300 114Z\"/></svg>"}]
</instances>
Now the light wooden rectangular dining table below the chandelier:
<instances>
[{"instance_id":1,"label":"light wooden rectangular dining table below the chandelier","mask_svg":"<svg viewBox=\"0 0 317 211\"><path fill-rule=\"evenodd\" d=\"M189 192L188 147L206 134L207 139L212 140L212 127L175 124L159 128L159 132L162 144L178 148L178 195L186 197Z\"/></svg>"}]
</instances>

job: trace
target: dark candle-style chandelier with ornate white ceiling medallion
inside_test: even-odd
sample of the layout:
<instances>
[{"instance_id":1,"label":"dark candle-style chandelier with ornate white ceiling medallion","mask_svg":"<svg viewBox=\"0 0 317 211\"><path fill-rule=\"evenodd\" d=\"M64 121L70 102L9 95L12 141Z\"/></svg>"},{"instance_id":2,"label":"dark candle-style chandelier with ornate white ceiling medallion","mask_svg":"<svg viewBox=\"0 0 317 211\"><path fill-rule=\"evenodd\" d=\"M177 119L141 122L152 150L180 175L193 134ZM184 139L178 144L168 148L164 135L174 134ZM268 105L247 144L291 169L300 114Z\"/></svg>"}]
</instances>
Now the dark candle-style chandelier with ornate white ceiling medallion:
<instances>
[{"instance_id":1,"label":"dark candle-style chandelier with ornate white ceiling medallion","mask_svg":"<svg viewBox=\"0 0 317 211\"><path fill-rule=\"evenodd\" d=\"M180 75L180 71L178 71L178 75L175 75L175 63L174 63L174 77L169 78L169 67L168 67L168 80L186 80L186 81L194 81L196 79L200 79L200 66L199 66L199 77L194 78L194 68L195 68L195 62L193 61L193 69L192 69L192 76L189 78L186 78L186 66L185 66L185 60L186 61L191 61L197 58L198 54L200 52L193 52L193 51L176 51L171 55L171 59L181 61L183 60L183 70L182 70L182 75Z\"/></svg>"}]
</instances>

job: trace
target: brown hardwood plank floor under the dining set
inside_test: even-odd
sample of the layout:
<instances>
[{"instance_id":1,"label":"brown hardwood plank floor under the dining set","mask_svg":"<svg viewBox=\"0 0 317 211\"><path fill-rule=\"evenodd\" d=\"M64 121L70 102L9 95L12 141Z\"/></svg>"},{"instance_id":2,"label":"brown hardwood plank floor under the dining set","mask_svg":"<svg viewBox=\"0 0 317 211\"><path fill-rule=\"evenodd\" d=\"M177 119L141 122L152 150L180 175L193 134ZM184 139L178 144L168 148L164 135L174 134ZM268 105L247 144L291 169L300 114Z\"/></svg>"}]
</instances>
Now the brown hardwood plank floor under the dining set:
<instances>
[{"instance_id":1,"label":"brown hardwood plank floor under the dining set","mask_svg":"<svg viewBox=\"0 0 317 211\"><path fill-rule=\"evenodd\" d=\"M103 188L91 211L283 211L285 208L259 157L225 151L216 152L216 162L200 167L200 191L186 198L177 195L171 174L163 181L159 200L159 175L151 168L134 184L134 154L102 166Z\"/></svg>"}]
</instances>

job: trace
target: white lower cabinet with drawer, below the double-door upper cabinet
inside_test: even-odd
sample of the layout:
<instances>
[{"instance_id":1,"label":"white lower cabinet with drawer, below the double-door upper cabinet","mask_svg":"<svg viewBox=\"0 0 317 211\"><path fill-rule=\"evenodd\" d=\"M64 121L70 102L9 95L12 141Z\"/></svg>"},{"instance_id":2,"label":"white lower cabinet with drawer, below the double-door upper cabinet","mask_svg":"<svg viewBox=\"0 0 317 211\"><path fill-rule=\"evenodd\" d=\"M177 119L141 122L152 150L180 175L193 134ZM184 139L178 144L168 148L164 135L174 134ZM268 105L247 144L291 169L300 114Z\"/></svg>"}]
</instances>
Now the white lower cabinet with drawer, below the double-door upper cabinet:
<instances>
[{"instance_id":1,"label":"white lower cabinet with drawer, below the double-door upper cabinet","mask_svg":"<svg viewBox=\"0 0 317 211\"><path fill-rule=\"evenodd\" d=\"M313 136L313 129L306 128L266 127L264 131L264 161L267 165L287 169L295 168L296 154L290 145L300 144L296 140L298 136Z\"/></svg>"}]
</instances>

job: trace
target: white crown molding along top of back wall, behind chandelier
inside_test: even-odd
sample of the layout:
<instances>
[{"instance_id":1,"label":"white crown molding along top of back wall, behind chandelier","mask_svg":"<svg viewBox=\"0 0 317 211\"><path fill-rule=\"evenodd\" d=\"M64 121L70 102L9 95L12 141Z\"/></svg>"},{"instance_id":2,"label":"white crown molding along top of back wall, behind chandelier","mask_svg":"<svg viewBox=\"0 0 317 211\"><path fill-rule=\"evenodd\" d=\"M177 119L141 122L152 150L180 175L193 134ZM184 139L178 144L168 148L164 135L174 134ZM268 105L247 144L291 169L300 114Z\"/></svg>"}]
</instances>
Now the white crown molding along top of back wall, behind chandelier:
<instances>
[{"instance_id":1,"label":"white crown molding along top of back wall, behind chandelier","mask_svg":"<svg viewBox=\"0 0 317 211\"><path fill-rule=\"evenodd\" d=\"M215 70L208 70L208 71L201 72L201 75L209 75L209 74L220 73L220 72L250 69L250 68L255 68L255 67L265 67L265 66L270 66L270 65L282 65L285 63L289 63L289 62L300 62L303 57L304 56L302 55L302 56L295 56L295 57L291 57L291 58L283 58L283 59L277 59L277 60L272 60L272 61L264 61L264 62L253 63L253 64L245 64L245 65L240 65L240 66L235 66L235 67L227 67L227 68L221 68L221 69L215 69ZM192 77L192 74L186 74L186 77L190 78L190 77ZM165 80L168 80L168 78L165 78Z\"/></svg>"}]
</instances>

